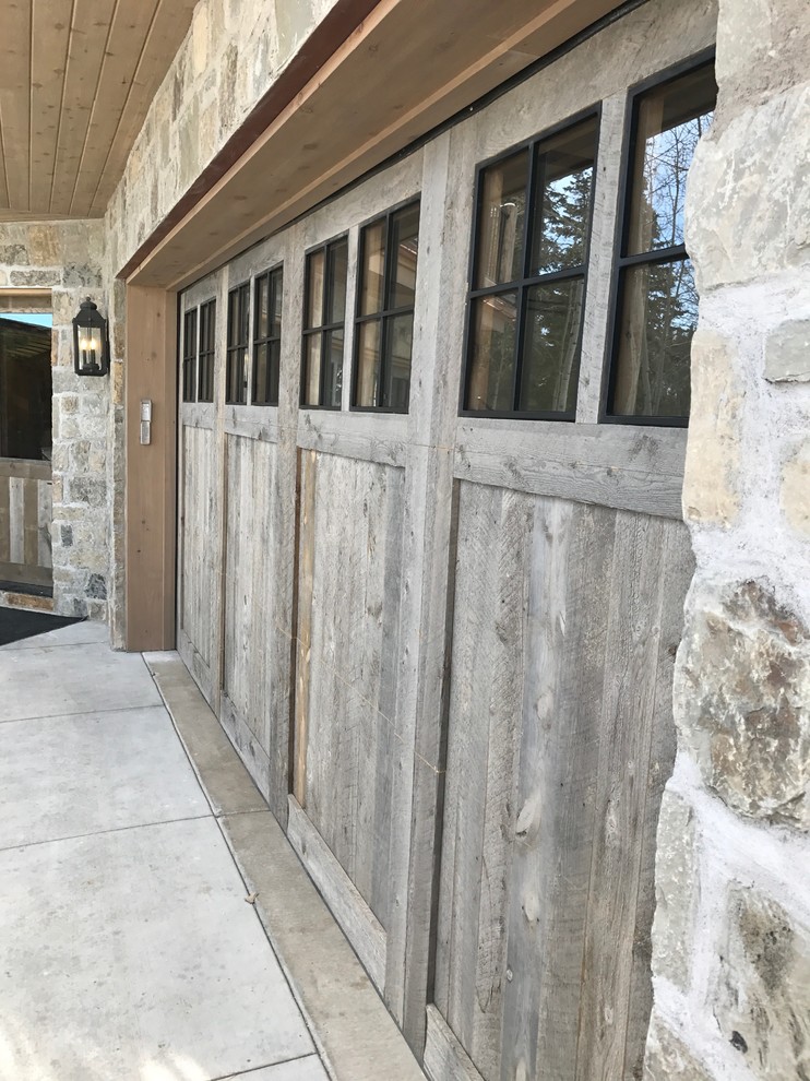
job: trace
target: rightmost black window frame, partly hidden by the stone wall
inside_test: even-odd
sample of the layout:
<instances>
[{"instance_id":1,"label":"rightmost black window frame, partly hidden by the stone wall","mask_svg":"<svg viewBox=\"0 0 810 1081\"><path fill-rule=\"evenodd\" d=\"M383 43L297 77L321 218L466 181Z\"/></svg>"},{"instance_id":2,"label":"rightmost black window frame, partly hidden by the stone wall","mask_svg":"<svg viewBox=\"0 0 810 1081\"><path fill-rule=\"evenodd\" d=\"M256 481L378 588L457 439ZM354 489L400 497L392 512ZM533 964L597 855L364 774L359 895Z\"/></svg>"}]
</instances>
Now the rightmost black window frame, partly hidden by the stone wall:
<instances>
[{"instance_id":1,"label":"rightmost black window frame, partly hidden by the stone wall","mask_svg":"<svg viewBox=\"0 0 810 1081\"><path fill-rule=\"evenodd\" d=\"M623 426L638 425L655 428L688 428L689 416L643 416L634 414L610 413L616 379L618 375L619 335L621 333L621 311L624 302L623 271L629 266L654 265L689 259L686 245L675 245L670 248L655 248L650 251L627 256L630 238L631 211L633 194L633 162L639 143L639 108L641 98L648 91L675 82L683 75L700 68L714 64L715 46L702 49L700 52L678 63L657 71L654 75L634 83L628 90L624 107L624 128L622 131L622 157L619 173L619 194L617 202L616 233L614 236L614 260L610 275L610 301L608 307L608 326L605 338L605 358L603 363L601 393L599 395L599 424L618 424ZM716 107L716 106L715 106Z\"/></svg>"}]
</instances>

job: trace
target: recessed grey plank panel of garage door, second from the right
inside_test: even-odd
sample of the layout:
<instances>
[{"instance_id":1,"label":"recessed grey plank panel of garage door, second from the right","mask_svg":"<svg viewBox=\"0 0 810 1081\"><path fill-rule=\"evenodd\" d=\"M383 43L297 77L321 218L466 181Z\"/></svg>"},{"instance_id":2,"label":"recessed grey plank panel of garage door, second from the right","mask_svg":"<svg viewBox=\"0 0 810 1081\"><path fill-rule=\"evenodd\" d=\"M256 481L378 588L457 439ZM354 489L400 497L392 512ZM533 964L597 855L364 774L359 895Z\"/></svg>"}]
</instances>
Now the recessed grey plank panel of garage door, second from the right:
<instances>
[{"instance_id":1,"label":"recessed grey plank panel of garage door, second from the right","mask_svg":"<svg viewBox=\"0 0 810 1081\"><path fill-rule=\"evenodd\" d=\"M306 733L307 815L383 926L402 499L398 470L319 454L302 475L303 575L310 545L313 551L306 723L298 717L299 736ZM302 581L299 626L306 628L309 586Z\"/></svg>"}]
</instances>

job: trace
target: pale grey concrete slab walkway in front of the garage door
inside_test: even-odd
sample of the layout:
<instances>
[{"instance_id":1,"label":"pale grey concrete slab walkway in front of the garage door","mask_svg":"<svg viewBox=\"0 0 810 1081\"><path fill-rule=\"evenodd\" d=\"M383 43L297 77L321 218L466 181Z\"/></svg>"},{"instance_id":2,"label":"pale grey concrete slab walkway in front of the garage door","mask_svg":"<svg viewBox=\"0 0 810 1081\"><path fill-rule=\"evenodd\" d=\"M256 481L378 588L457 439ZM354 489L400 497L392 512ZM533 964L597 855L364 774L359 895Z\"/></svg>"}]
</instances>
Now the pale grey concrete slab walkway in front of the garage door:
<instances>
[{"instance_id":1,"label":"pale grey concrete slab walkway in front of the garage door","mask_svg":"<svg viewBox=\"0 0 810 1081\"><path fill-rule=\"evenodd\" d=\"M0 650L0 1079L325 1081L152 674L106 641Z\"/></svg>"}]
</instances>

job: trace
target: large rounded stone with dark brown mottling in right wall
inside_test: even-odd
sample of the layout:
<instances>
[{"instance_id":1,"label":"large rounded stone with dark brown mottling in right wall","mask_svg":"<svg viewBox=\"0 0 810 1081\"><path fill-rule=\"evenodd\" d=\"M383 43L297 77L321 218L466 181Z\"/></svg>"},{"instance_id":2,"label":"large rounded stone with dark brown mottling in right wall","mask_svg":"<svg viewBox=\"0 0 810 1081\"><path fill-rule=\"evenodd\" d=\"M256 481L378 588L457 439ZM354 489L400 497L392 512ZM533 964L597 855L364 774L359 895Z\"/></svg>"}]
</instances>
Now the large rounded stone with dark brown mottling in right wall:
<instances>
[{"instance_id":1,"label":"large rounded stone with dark brown mottling in right wall","mask_svg":"<svg viewBox=\"0 0 810 1081\"><path fill-rule=\"evenodd\" d=\"M705 783L734 810L810 831L810 631L769 586L690 606L675 716Z\"/></svg>"}]
</instances>

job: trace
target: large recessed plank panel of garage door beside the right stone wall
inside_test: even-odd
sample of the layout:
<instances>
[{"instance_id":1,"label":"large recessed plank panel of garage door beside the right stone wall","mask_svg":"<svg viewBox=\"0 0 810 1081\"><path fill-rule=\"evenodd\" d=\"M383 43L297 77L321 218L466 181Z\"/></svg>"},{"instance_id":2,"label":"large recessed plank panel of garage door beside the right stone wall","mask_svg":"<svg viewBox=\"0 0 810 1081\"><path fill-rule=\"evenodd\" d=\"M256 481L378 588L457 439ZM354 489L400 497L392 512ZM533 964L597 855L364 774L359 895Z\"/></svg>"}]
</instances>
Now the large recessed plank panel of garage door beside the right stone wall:
<instances>
[{"instance_id":1,"label":"large recessed plank panel of garage door beside the right stone wall","mask_svg":"<svg viewBox=\"0 0 810 1081\"><path fill-rule=\"evenodd\" d=\"M462 485L434 1000L486 1081L635 1077L690 573L680 523Z\"/></svg>"}]
</instances>

